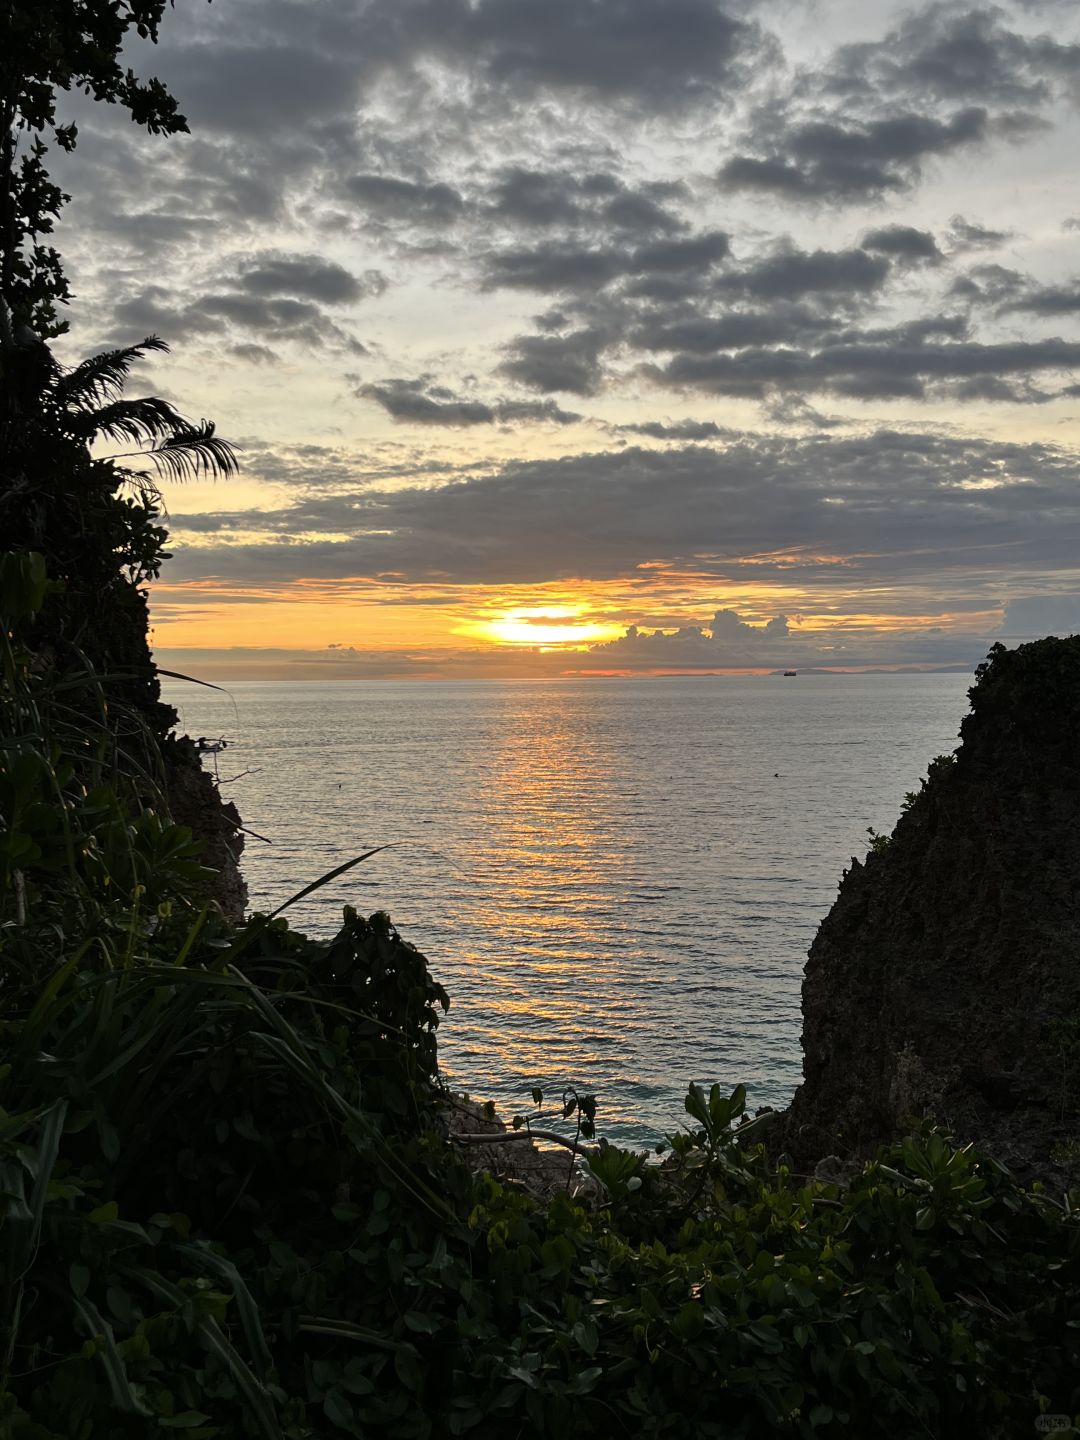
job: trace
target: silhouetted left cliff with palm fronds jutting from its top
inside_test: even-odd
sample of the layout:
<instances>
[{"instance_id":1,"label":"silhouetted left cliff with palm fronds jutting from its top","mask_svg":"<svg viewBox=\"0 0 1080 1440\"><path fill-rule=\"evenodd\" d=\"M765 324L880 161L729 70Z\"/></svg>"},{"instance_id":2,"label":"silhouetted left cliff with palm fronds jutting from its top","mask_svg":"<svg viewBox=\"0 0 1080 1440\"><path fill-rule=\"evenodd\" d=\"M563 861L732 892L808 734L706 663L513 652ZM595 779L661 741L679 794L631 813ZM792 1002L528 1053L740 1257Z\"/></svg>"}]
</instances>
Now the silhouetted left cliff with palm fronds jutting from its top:
<instances>
[{"instance_id":1,"label":"silhouetted left cliff with palm fronds jutting from its top","mask_svg":"<svg viewBox=\"0 0 1080 1440\"><path fill-rule=\"evenodd\" d=\"M204 841L210 897L239 920L239 815L194 744L168 739L177 716L161 701L148 644L147 586L167 559L161 497L153 475L94 451L122 438L173 478L232 474L213 426L153 396L122 399L134 360L163 350L151 338L66 369L33 336L0 344L0 549L42 554L53 582L27 631L37 672L95 677L66 690L72 717L92 726L95 759L132 780L137 804L164 805Z\"/></svg>"}]
</instances>

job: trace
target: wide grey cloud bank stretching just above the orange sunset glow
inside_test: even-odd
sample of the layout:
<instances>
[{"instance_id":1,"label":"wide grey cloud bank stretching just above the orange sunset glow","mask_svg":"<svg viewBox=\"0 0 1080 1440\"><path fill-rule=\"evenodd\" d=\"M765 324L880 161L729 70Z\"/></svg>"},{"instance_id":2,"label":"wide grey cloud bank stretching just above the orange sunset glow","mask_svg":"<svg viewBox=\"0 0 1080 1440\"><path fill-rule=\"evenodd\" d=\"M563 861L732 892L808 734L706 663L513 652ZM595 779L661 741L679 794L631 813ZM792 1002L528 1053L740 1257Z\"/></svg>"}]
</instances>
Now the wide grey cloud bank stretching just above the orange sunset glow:
<instances>
[{"instance_id":1,"label":"wide grey cloud bank stretching just above the orange sunset glow","mask_svg":"<svg viewBox=\"0 0 1080 1440\"><path fill-rule=\"evenodd\" d=\"M215 539L189 537L170 569L508 585L655 577L660 564L806 592L841 573L852 592L933 577L963 595L986 572L999 593L1009 575L1074 566L1079 480L1077 455L1048 445L903 431L743 435L518 461L436 485L346 484L256 514L174 514L177 531ZM266 543L239 539L259 531ZM348 539L274 539L320 534Z\"/></svg>"}]
</instances>

